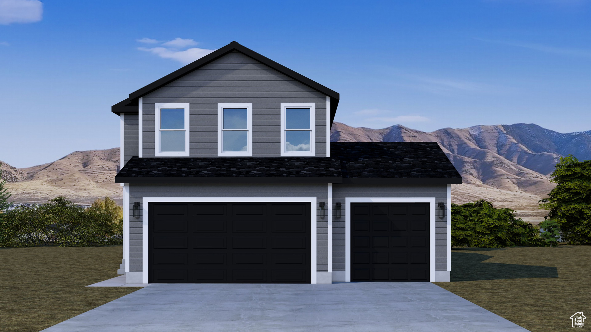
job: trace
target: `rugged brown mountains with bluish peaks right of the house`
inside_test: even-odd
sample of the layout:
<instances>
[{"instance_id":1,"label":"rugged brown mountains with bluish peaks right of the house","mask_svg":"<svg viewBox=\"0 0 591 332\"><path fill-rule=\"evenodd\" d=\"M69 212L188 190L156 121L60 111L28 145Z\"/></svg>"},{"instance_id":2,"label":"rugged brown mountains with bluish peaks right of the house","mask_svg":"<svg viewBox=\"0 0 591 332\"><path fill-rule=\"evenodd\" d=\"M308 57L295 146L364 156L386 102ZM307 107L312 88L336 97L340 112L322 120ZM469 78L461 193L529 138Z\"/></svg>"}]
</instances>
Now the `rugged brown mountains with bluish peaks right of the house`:
<instances>
[{"instance_id":1,"label":"rugged brown mountains with bluish peaks right of the house","mask_svg":"<svg viewBox=\"0 0 591 332\"><path fill-rule=\"evenodd\" d=\"M591 159L591 131L561 134L534 124L444 128L423 132L395 125L384 129L354 128L335 122L333 142L438 142L462 174L465 184L452 185L452 201L478 198L517 210L531 222L543 220L538 200L554 187L549 175L560 156Z\"/></svg>"}]
</instances>

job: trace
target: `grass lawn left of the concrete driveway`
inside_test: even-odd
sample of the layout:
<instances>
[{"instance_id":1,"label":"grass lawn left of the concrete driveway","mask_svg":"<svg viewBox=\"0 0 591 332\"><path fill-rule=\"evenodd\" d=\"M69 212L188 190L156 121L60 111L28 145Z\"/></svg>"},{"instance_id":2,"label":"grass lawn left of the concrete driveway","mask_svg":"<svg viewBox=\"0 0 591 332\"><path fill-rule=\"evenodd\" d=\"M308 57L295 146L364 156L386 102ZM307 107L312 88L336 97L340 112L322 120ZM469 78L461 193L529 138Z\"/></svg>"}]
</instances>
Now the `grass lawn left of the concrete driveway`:
<instances>
[{"instance_id":1,"label":"grass lawn left of the concrete driveway","mask_svg":"<svg viewBox=\"0 0 591 332\"><path fill-rule=\"evenodd\" d=\"M37 332L136 291L114 278L122 246L0 248L0 331Z\"/></svg>"}]
</instances>

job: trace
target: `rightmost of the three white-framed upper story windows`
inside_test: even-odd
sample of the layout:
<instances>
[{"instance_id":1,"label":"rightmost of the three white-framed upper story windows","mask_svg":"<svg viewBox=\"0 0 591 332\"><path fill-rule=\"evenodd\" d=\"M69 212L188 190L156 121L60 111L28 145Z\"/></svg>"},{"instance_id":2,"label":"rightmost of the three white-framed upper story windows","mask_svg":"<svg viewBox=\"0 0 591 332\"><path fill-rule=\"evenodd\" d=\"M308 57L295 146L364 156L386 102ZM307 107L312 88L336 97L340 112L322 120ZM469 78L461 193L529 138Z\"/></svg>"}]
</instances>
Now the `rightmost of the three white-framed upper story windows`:
<instances>
[{"instance_id":1,"label":"rightmost of the three white-framed upper story windows","mask_svg":"<svg viewBox=\"0 0 591 332\"><path fill-rule=\"evenodd\" d=\"M281 103L281 157L316 156L316 103Z\"/></svg>"}]
</instances>

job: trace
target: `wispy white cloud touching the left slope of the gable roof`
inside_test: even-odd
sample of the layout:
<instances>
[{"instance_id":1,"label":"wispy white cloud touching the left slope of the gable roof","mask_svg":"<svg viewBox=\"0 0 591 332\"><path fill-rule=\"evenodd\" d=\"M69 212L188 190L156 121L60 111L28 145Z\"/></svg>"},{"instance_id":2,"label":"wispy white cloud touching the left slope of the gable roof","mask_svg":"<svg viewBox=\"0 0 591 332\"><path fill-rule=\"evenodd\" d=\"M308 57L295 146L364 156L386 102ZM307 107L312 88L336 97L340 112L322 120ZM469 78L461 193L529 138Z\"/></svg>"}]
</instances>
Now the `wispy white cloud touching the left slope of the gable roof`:
<instances>
[{"instance_id":1,"label":"wispy white cloud touching the left slope of the gable roof","mask_svg":"<svg viewBox=\"0 0 591 332\"><path fill-rule=\"evenodd\" d=\"M139 39L141 43L160 43L155 39L150 38L142 38ZM194 46L198 43L192 39L183 39L183 38L174 38L173 40L167 41L162 43L161 46L158 47L138 47L138 50L150 52L152 54L156 54L161 58L168 58L176 60L182 64L189 64L203 56L206 56L209 53L212 53L215 50L208 50L207 48L199 48L199 47L191 47L187 50L181 50L187 46Z\"/></svg>"}]
</instances>

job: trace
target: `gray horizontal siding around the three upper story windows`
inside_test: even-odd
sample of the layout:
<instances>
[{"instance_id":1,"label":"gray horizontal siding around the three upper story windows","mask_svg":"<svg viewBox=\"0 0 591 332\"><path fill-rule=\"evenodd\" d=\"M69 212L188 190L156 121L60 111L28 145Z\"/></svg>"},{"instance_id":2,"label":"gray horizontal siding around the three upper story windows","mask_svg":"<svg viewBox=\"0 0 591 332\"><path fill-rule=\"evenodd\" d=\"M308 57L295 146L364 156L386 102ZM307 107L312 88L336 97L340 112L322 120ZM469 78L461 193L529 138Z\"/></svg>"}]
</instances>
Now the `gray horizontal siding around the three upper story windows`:
<instances>
[{"instance_id":1,"label":"gray horizontal siding around the three upper story windows","mask_svg":"<svg viewBox=\"0 0 591 332\"><path fill-rule=\"evenodd\" d=\"M154 103L190 103L190 157L217 157L217 103L252 103L253 157L280 157L280 103L316 103L326 157L326 95L236 51L143 97L143 156L154 157Z\"/></svg>"}]
</instances>

